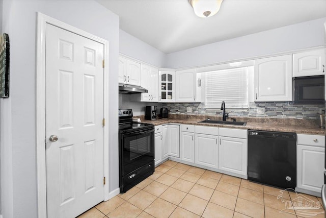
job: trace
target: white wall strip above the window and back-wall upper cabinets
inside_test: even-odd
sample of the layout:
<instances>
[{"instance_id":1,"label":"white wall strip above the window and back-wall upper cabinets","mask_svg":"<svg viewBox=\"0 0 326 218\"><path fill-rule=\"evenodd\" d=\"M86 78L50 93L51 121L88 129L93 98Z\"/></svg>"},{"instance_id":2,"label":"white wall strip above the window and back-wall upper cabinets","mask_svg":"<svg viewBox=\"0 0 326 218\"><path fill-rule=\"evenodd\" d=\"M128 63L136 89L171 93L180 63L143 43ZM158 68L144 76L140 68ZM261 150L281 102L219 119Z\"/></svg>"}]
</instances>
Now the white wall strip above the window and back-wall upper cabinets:
<instances>
[{"instance_id":1,"label":"white wall strip above the window and back-wall upper cabinets","mask_svg":"<svg viewBox=\"0 0 326 218\"><path fill-rule=\"evenodd\" d=\"M323 45L326 17L167 55L165 67L202 66Z\"/></svg>"}]
</instances>

